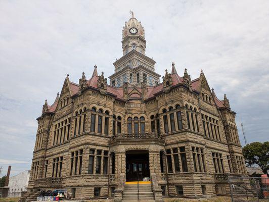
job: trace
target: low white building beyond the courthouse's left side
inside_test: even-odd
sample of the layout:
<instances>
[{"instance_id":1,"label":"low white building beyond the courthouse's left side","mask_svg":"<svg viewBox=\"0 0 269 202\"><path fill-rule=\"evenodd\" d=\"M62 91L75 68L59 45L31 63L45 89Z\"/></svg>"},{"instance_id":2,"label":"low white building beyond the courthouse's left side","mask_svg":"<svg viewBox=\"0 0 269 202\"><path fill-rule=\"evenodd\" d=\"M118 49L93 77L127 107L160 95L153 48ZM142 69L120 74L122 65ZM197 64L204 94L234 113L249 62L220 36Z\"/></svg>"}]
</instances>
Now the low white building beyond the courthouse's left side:
<instances>
[{"instance_id":1,"label":"low white building beyond the courthouse's left side","mask_svg":"<svg viewBox=\"0 0 269 202\"><path fill-rule=\"evenodd\" d=\"M30 171L23 171L9 178L9 194L8 197L19 197L22 191L27 190Z\"/></svg>"}]
</instances>

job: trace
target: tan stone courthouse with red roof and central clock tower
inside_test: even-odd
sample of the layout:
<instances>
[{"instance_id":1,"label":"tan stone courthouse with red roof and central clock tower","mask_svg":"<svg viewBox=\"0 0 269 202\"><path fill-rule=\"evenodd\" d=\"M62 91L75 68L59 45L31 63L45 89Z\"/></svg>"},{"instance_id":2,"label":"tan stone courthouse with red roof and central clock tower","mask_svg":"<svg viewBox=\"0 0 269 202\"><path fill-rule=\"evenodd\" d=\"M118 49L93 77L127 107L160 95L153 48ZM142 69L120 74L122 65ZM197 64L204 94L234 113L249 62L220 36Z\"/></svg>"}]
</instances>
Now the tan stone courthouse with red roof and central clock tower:
<instances>
[{"instance_id":1,"label":"tan stone courthouse with red roof and central clock tower","mask_svg":"<svg viewBox=\"0 0 269 202\"><path fill-rule=\"evenodd\" d=\"M133 13L121 43L110 83L95 66L78 82L67 75L55 102L46 100L26 196L66 189L78 199L128 201L138 192L143 198L148 183L145 200L228 192L229 175L247 174L229 99L217 98L202 71L192 80L173 63L160 81ZM132 184L139 186L133 197Z\"/></svg>"}]
</instances>

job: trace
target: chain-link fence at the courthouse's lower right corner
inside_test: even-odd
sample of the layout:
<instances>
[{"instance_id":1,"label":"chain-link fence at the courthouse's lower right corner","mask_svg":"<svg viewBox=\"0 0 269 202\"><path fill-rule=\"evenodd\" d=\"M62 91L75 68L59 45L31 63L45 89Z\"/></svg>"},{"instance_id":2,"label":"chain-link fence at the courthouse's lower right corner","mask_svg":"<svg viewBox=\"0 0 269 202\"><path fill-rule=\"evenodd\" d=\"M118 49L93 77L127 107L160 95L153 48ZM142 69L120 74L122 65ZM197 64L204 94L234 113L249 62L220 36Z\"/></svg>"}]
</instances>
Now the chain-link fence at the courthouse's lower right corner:
<instances>
[{"instance_id":1,"label":"chain-link fence at the courthouse's lower right corner","mask_svg":"<svg viewBox=\"0 0 269 202\"><path fill-rule=\"evenodd\" d=\"M233 202L269 202L269 178L229 177Z\"/></svg>"}]
</instances>

